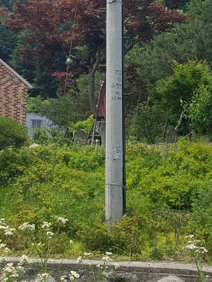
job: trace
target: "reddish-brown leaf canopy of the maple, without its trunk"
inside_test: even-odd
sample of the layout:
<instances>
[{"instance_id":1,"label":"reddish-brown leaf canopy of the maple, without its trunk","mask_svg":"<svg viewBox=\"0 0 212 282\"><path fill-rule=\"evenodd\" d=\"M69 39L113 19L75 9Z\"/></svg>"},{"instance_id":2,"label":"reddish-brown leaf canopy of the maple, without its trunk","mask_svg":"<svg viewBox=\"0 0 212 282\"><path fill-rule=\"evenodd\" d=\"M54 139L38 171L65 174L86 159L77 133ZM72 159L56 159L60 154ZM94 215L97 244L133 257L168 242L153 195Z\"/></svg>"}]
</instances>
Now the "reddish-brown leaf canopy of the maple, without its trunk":
<instances>
[{"instance_id":1,"label":"reddish-brown leaf canopy of the maple, without its trunk","mask_svg":"<svg viewBox=\"0 0 212 282\"><path fill-rule=\"evenodd\" d=\"M84 58L84 60L87 59L89 63L92 56L90 50L96 48L97 45L100 47L104 44L105 14L104 11L98 9L104 5L104 2L100 4L95 0L89 3L80 2L78 5L73 47L85 45L89 53L88 58ZM167 28L171 28L174 22L182 22L184 19L184 16L179 15L177 11L166 9L164 5L157 4L155 1L148 3L138 1L132 6L129 0L125 5L125 17L132 16L132 19L126 21L125 24L126 35L132 36L132 38L138 35L139 40L143 41L151 38L153 34L159 34ZM90 8L89 14L85 12L88 7ZM30 31L26 34L25 42L20 48L22 57L31 62L42 58L43 66L52 69L54 67L51 66L53 57L60 57L61 51L59 50L65 52L64 49L70 45L72 33L70 22L73 22L75 8L75 1L69 3L67 1L48 2L42 0L35 2L30 0L27 7L25 4L15 3L14 13L8 15L5 23L12 28L14 33L22 30ZM31 10L31 16L28 15L26 20L25 11L27 9ZM48 17L45 13L48 13ZM39 25L36 25L35 22L39 22ZM142 28L144 25L145 29ZM95 33L93 32L94 26ZM34 46L31 42L34 43ZM79 53L79 49L77 52ZM55 56L56 54L57 56ZM81 57L74 58L74 61L81 63ZM84 61L83 64L86 65ZM82 68L82 66L80 67Z\"/></svg>"}]
</instances>

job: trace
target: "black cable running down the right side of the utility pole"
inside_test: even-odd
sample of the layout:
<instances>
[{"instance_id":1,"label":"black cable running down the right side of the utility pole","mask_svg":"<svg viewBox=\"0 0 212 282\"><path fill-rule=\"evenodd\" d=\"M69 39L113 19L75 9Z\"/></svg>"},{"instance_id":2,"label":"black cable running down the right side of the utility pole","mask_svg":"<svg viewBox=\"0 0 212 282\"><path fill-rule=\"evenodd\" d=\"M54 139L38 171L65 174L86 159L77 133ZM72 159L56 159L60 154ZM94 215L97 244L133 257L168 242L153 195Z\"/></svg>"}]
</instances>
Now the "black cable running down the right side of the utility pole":
<instances>
[{"instance_id":1,"label":"black cable running down the right side of the utility pole","mask_svg":"<svg viewBox=\"0 0 212 282\"><path fill-rule=\"evenodd\" d=\"M122 93L124 94L124 0L122 0ZM123 141L123 214L126 212L126 161L125 161L125 108L124 95L122 95L122 141Z\"/></svg>"}]
</instances>

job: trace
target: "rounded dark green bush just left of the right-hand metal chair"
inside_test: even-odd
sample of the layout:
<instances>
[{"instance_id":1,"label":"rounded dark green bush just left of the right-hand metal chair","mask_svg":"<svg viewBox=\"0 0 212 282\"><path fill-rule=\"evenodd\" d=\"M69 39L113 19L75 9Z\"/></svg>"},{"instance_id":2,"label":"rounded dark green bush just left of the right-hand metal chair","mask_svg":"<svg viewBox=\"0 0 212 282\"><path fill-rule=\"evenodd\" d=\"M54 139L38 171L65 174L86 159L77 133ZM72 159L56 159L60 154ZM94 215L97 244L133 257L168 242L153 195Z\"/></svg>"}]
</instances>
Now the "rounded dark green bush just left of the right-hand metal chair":
<instances>
[{"instance_id":1,"label":"rounded dark green bush just left of the right-hand metal chair","mask_svg":"<svg viewBox=\"0 0 212 282\"><path fill-rule=\"evenodd\" d=\"M137 133L145 138L147 143L154 143L155 138L161 134L165 118L161 105L147 106L146 102L140 104L135 119Z\"/></svg>"}]
</instances>

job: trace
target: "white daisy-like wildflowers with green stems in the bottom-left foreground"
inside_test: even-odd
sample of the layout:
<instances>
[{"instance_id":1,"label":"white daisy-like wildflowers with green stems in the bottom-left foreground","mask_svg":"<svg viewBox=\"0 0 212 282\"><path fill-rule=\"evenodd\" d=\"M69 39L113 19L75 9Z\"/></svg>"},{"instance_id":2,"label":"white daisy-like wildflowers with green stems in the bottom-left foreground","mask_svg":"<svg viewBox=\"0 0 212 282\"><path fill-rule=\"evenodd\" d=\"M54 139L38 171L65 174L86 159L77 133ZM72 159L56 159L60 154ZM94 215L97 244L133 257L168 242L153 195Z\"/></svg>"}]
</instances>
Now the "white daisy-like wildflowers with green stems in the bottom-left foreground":
<instances>
[{"instance_id":1,"label":"white daisy-like wildflowers with green stems in the bottom-left foreground","mask_svg":"<svg viewBox=\"0 0 212 282\"><path fill-rule=\"evenodd\" d=\"M20 257L20 261L17 265L14 266L13 263L9 263L8 254L11 253L11 249L7 247L7 244L9 241L16 241L17 238L22 238L22 240L25 243L25 247L28 247L31 251L31 254L33 254L36 257L36 265L37 267L42 268L42 274L37 274L37 277L32 279L32 282L48 282L51 277L47 271L48 271L48 261L50 258L50 254L52 249L55 248L55 246L60 245L61 243L61 235L64 235L65 233L62 232L65 223L68 222L67 218L62 217L55 217L53 219L53 223L44 221L40 228L36 226L34 223L30 222L24 222L22 225L18 227L18 230L15 228L10 228L9 225L6 225L5 218L0 219L0 229L2 230L0 232L1 238L4 238L3 242L0 241L0 281L8 281L8 282L14 282L16 280L20 280L22 277L22 274L25 273L25 267L30 267L35 273L36 271L32 268L33 261L28 258L27 255L23 254ZM14 234L15 233L15 234ZM41 235L41 238L39 238ZM39 242L39 240L41 240ZM63 263L64 257L66 252L70 251L70 246L72 245L73 248L74 241L70 240L67 242L66 249L63 249L63 258L61 261L61 265ZM77 261L79 264L81 264L84 268L84 271L86 272L86 276L90 278L91 281L97 281L95 279L95 276L97 274L98 281L103 281L104 278L107 278L107 281L110 281L111 277L114 274L115 270L118 270L120 268L119 264L115 263L113 267L113 271L109 274L109 276L106 276L106 271L108 270L108 266L111 264L114 259L111 258L113 255L112 252L106 252L102 257L102 263L94 266L94 264L91 262L91 255L92 253L84 252L83 257L79 256L77 258ZM39 259L38 259L39 258ZM85 260L89 259L89 267L85 265ZM60 265L60 267L61 267ZM3 266L3 267L2 267ZM60 270L60 267L58 268L58 272ZM91 270L91 271L90 271ZM56 274L56 277L58 275L58 272ZM92 272L92 274L91 274ZM55 277L55 278L56 278ZM80 275L76 273L76 271L70 271L70 274L68 274L68 277L70 280L75 280L75 278L79 278ZM32 277L31 277L32 278ZM54 279L55 279L54 278ZM67 281L65 278L67 278L67 275L62 275L60 277L61 281ZM16 280L15 280L16 279Z\"/></svg>"}]
</instances>

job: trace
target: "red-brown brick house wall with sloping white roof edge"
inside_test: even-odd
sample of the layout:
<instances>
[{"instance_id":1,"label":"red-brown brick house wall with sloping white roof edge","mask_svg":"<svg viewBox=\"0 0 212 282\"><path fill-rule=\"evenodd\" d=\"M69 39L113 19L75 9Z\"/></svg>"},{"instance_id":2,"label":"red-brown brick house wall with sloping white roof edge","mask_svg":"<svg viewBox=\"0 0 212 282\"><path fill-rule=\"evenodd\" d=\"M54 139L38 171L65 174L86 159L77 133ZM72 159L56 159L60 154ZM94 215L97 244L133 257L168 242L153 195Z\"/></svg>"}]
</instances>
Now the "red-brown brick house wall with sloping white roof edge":
<instances>
[{"instance_id":1,"label":"red-brown brick house wall with sloping white roof edge","mask_svg":"<svg viewBox=\"0 0 212 282\"><path fill-rule=\"evenodd\" d=\"M32 86L0 59L0 115L26 122L27 92Z\"/></svg>"}]
</instances>

